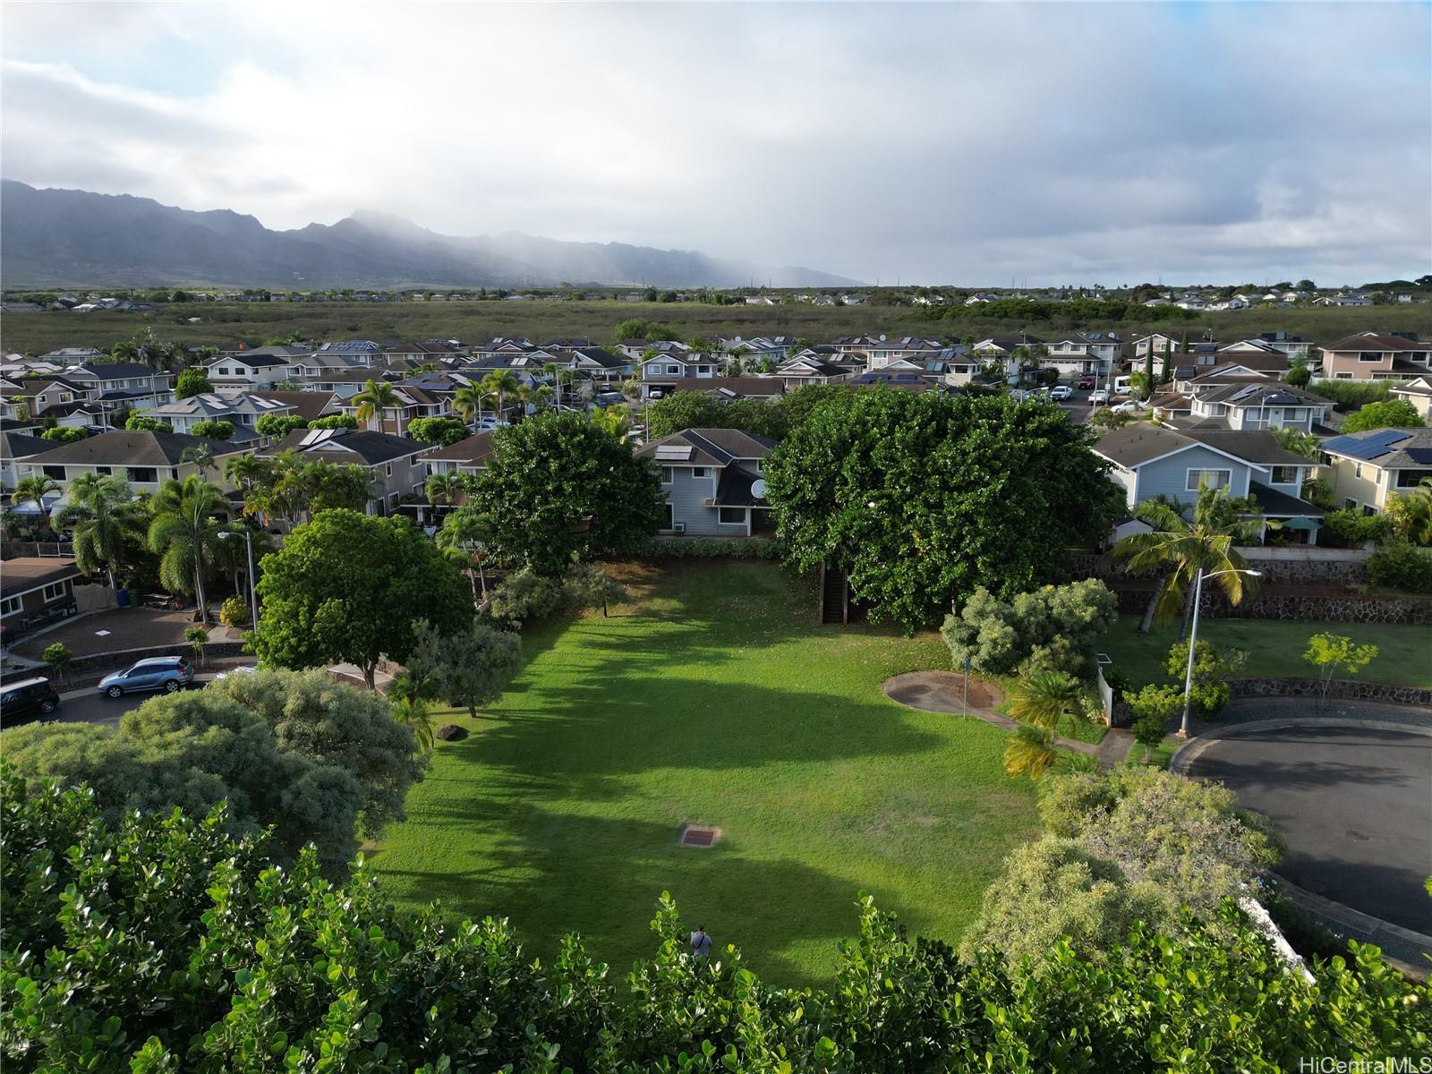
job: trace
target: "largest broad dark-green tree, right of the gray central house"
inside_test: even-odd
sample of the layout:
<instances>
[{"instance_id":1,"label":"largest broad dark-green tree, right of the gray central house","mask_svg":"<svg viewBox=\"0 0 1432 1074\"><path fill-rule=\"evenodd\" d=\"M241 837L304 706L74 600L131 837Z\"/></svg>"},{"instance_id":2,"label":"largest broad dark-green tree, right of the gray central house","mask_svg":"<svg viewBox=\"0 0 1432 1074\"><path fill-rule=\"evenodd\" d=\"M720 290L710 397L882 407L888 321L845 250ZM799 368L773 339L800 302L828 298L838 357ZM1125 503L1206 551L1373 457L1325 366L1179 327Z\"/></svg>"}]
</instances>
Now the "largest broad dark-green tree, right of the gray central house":
<instances>
[{"instance_id":1,"label":"largest broad dark-green tree, right of the gray central house","mask_svg":"<svg viewBox=\"0 0 1432 1074\"><path fill-rule=\"evenodd\" d=\"M831 395L765 463L800 570L843 569L872 614L928 626L984 586L1053 580L1118 507L1090 434L1053 405L869 388Z\"/></svg>"}]
</instances>

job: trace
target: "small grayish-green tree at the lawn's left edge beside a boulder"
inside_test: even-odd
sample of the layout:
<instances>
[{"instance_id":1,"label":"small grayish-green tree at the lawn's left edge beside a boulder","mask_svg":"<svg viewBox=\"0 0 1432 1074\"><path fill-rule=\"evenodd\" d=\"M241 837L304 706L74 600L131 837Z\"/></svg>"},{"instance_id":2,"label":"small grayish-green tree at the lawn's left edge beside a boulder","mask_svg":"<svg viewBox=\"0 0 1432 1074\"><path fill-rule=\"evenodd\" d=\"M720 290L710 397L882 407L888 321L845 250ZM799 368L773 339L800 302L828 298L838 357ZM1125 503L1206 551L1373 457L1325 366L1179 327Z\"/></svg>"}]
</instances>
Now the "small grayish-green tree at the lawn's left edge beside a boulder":
<instances>
[{"instance_id":1,"label":"small grayish-green tree at the lawn's left edge beside a boulder","mask_svg":"<svg viewBox=\"0 0 1432 1074\"><path fill-rule=\"evenodd\" d=\"M425 619L412 624L414 647L408 674L420 696L465 706L477 719L478 705L503 696L507 680L523 666L521 639L481 623L442 634Z\"/></svg>"}]
</instances>

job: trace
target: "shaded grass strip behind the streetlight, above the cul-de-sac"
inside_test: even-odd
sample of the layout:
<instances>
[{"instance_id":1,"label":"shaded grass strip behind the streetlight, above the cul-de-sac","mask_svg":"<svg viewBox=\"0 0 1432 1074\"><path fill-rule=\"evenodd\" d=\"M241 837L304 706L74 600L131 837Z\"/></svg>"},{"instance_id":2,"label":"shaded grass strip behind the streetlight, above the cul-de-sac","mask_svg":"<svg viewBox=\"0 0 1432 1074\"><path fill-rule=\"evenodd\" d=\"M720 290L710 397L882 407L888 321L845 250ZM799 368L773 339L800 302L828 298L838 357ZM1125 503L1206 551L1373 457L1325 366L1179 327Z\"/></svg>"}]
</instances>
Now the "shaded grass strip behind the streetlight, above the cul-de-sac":
<instances>
[{"instance_id":1,"label":"shaded grass strip behind the streetlight, above the cul-de-sac","mask_svg":"<svg viewBox=\"0 0 1432 1074\"><path fill-rule=\"evenodd\" d=\"M1432 626L1385 623L1285 623L1260 619L1199 619L1199 637L1219 646L1247 650L1243 674L1249 677L1315 676L1303 659L1313 634L1346 634L1359 644L1378 646L1376 659L1359 679L1396 686L1432 686ZM1128 673L1136 684L1173 682L1164 667L1169 649L1179 639L1177 623L1138 633L1137 616L1120 616L1118 626L1098 640L1098 649Z\"/></svg>"}]
</instances>

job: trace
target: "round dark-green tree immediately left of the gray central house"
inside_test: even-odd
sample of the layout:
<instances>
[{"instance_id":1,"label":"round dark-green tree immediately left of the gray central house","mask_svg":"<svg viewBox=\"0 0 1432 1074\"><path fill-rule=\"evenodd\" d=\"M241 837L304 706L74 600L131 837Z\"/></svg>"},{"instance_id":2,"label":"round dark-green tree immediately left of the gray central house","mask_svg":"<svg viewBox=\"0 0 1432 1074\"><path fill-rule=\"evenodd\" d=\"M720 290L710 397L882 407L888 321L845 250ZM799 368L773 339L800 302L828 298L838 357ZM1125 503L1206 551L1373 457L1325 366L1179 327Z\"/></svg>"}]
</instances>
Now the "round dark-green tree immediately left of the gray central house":
<instances>
[{"instance_id":1,"label":"round dark-green tree immediately left of the gray central house","mask_svg":"<svg viewBox=\"0 0 1432 1074\"><path fill-rule=\"evenodd\" d=\"M633 554L666 517L656 468L573 412L500 430L471 503L497 543L543 574L573 557Z\"/></svg>"}]
</instances>

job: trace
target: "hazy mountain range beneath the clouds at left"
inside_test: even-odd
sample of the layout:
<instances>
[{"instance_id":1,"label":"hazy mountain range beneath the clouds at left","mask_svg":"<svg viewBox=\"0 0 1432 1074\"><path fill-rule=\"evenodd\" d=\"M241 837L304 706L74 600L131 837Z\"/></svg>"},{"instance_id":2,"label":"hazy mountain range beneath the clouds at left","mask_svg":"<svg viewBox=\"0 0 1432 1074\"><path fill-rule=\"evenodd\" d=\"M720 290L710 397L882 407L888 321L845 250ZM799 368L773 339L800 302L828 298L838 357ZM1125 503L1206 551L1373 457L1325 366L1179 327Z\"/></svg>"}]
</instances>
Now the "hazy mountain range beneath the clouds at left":
<instances>
[{"instance_id":1,"label":"hazy mountain range beneath the clouds at left","mask_svg":"<svg viewBox=\"0 0 1432 1074\"><path fill-rule=\"evenodd\" d=\"M269 231L253 216L150 198L0 180L0 285L314 288L649 285L852 286L798 265L697 251L563 242L510 232L455 238L381 212Z\"/></svg>"}]
</instances>

